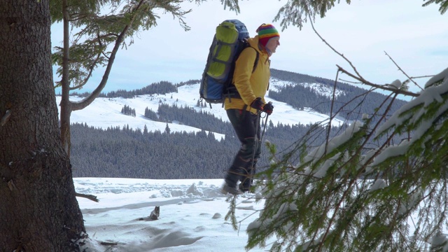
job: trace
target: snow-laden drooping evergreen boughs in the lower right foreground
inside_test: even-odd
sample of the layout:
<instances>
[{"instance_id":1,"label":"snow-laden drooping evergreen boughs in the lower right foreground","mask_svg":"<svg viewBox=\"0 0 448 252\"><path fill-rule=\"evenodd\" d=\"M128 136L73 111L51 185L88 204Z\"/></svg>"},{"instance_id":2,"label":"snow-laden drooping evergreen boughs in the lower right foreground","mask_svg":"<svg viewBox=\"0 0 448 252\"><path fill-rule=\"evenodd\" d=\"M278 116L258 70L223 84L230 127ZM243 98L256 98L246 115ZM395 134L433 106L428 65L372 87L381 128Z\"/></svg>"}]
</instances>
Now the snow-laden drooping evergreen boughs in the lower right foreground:
<instances>
[{"instance_id":1,"label":"snow-laden drooping evergreen boughs in the lower right foreground","mask_svg":"<svg viewBox=\"0 0 448 252\"><path fill-rule=\"evenodd\" d=\"M258 183L265 207L248 226L246 248L275 235L274 251L442 251L448 241L440 234L448 228L447 87L448 69L391 118L383 115L384 123L365 115L321 145L314 137L326 129L312 127L283 156L269 145L272 165L258 174L265 178ZM384 101L386 114L398 92ZM394 136L404 140L393 144ZM379 147L367 148L369 141Z\"/></svg>"}]
</instances>

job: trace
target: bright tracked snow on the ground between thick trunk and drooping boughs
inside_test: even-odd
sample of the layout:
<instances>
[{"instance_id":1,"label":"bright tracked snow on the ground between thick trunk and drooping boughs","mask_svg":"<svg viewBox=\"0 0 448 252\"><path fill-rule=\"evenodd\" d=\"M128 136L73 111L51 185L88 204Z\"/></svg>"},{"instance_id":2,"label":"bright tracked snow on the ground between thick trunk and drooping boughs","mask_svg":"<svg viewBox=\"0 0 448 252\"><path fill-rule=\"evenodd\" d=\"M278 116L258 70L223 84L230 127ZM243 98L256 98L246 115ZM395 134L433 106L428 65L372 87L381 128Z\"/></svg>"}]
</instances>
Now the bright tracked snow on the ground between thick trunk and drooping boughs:
<instances>
[{"instance_id":1,"label":"bright tracked snow on the ground between thick trunk and drooping boughs","mask_svg":"<svg viewBox=\"0 0 448 252\"><path fill-rule=\"evenodd\" d=\"M76 192L96 195L99 202L78 197L90 252L245 251L246 228L262 202L239 197L239 230L225 221L230 203L220 193L222 179L75 178ZM160 206L160 218L148 216ZM102 242L117 245L102 245ZM268 251L254 248L251 251Z\"/></svg>"}]
</instances>

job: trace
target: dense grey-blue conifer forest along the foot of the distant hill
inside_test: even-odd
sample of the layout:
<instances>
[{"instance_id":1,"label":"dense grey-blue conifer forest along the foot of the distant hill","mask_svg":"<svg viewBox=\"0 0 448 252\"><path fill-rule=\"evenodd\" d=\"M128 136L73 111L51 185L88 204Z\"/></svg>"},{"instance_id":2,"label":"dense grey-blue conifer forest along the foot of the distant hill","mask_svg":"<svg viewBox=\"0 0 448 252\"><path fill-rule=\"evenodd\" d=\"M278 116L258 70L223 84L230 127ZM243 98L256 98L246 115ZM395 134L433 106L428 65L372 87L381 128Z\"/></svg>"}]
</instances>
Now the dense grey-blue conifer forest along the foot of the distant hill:
<instances>
[{"instance_id":1,"label":"dense grey-blue conifer forest along the foot of the distant hill","mask_svg":"<svg viewBox=\"0 0 448 252\"><path fill-rule=\"evenodd\" d=\"M207 120L207 119L206 119ZM267 127L264 141L284 155L309 130L309 125ZM332 129L335 134L338 128ZM144 179L220 179L225 175L240 144L235 134L216 140L213 133L148 132L129 126L101 130L86 124L71 126L71 164L76 177ZM325 134L318 136L321 143ZM316 144L315 142L314 144ZM262 146L258 169L267 167L269 153ZM297 157L298 158L298 153Z\"/></svg>"}]
</instances>

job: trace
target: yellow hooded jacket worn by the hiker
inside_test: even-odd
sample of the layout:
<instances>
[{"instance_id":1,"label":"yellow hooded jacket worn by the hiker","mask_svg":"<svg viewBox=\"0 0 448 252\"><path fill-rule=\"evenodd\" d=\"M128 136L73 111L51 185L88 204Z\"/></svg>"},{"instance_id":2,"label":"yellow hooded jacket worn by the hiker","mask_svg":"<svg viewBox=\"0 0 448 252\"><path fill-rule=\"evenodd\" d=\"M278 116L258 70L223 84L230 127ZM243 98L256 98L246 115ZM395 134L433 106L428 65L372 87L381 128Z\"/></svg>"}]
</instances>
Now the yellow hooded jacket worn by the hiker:
<instances>
[{"instance_id":1,"label":"yellow hooded jacket worn by the hiker","mask_svg":"<svg viewBox=\"0 0 448 252\"><path fill-rule=\"evenodd\" d=\"M269 86L269 78L271 71L269 70L269 55L264 50L258 48L258 35L248 39L252 48L244 49L235 62L235 71L233 73L233 83L241 96L241 99L232 98L225 99L224 109L243 109L247 105L248 111L257 113L251 108L251 103L261 97L265 102L265 94ZM258 51L258 64L253 71L253 64L257 56L255 50ZM253 71L253 72L252 72Z\"/></svg>"}]
</instances>

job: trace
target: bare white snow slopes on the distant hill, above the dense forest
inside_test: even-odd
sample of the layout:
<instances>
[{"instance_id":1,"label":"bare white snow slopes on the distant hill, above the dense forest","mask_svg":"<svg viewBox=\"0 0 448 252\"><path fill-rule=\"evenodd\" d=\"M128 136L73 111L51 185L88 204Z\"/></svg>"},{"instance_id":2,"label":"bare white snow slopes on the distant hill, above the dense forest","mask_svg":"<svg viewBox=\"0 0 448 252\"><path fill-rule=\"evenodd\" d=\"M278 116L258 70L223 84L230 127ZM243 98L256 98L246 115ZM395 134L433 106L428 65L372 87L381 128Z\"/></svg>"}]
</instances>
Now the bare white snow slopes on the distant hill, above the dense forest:
<instances>
[{"instance_id":1,"label":"bare white snow slopes on the distant hill, above the dense forest","mask_svg":"<svg viewBox=\"0 0 448 252\"><path fill-rule=\"evenodd\" d=\"M276 78L271 78L270 90L279 90L279 88L284 85L290 85L292 83L279 80ZM314 87L316 92L321 94L332 95L332 90L329 87L325 87L319 83L309 83L304 84L309 87ZM148 131L152 132L155 130L160 130L164 132L167 127L167 123L157 122L149 120L144 117L145 109L151 109L157 112L160 102L168 104L170 106L176 104L177 106L188 106L194 108L197 111L204 111L214 114L216 118L221 118L223 121L227 121L227 115L225 110L222 108L221 104L213 104L207 107L197 106L197 100L199 97L200 84L194 85L183 85L178 88L178 92L172 92L167 94L147 94L134 97L132 99L125 99L123 97L119 98L102 98L98 97L94 100L90 106L80 111L73 111L71 113L71 123L87 123L89 126L107 129L107 127L123 127L129 125L132 129L143 130L145 125ZM337 92L340 94L341 92ZM56 97L57 104L61 100L60 96ZM71 101L77 102L82 98L77 96L72 96ZM328 116L321 113L312 111L311 109L305 108L303 111L294 109L292 106L276 101L269 97L269 93L266 97L267 102L272 102L274 104L274 113L269 116L269 120L272 120L274 125L282 123L283 125L307 125L311 123L327 122ZM131 109L135 109L136 116L126 116L121 113L123 106L130 106ZM58 106L60 109L60 107ZM334 125L342 124L341 120L334 120ZM190 127L187 125L182 125L182 122L175 121L174 123L169 123L169 129L172 132L200 132L202 129L196 127ZM216 134L217 139L221 139L223 135Z\"/></svg>"}]
</instances>

